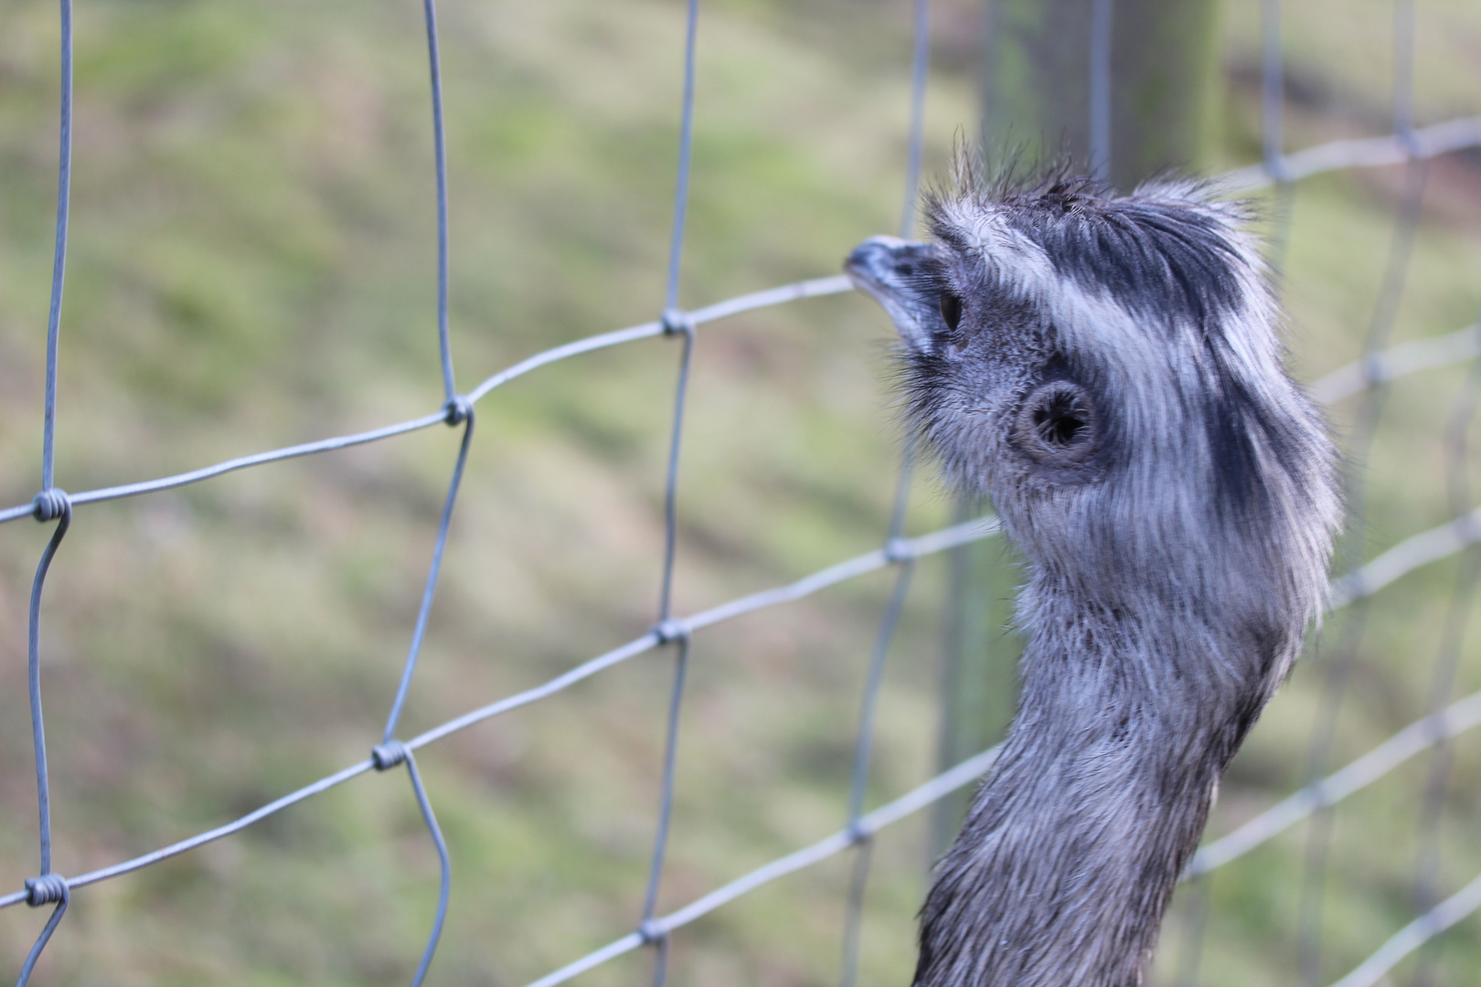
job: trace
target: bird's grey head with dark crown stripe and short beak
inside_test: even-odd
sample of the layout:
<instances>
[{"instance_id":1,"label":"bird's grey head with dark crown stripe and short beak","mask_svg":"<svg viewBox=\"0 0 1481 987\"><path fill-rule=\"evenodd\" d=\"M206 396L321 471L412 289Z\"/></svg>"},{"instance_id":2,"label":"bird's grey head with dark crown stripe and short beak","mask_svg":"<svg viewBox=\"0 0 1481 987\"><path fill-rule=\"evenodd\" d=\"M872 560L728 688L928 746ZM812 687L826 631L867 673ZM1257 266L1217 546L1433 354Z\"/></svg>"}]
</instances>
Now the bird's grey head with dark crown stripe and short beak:
<instances>
[{"instance_id":1,"label":"bird's grey head with dark crown stripe and short beak","mask_svg":"<svg viewBox=\"0 0 1481 987\"><path fill-rule=\"evenodd\" d=\"M1200 608L1286 664L1339 506L1246 222L1198 183L1059 172L937 195L930 243L878 237L846 269L900 333L911 423L1038 579Z\"/></svg>"}]
</instances>

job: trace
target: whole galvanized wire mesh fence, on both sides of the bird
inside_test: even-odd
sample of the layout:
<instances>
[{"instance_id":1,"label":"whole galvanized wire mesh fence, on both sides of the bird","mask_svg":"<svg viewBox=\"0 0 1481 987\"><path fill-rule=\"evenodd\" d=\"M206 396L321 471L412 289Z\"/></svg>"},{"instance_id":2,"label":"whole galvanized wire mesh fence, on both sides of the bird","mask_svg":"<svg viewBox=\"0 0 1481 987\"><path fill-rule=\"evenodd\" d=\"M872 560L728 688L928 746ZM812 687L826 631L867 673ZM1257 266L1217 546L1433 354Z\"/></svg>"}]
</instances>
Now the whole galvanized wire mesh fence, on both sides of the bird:
<instances>
[{"instance_id":1,"label":"whole galvanized wire mesh fence, on both sides of the bird","mask_svg":"<svg viewBox=\"0 0 1481 987\"><path fill-rule=\"evenodd\" d=\"M161 476L158 479L126 482L76 493L64 491L56 482L56 434L58 407L65 410L65 401L58 400L58 351L59 327L62 324L62 299L65 269L68 259L67 235L70 228L70 176L71 176L71 126L73 126L73 22L71 1L59 0L61 9L61 38L62 38L62 84L61 84L61 154L56 200L55 228L55 265L52 275L50 308L46 334L46 386L44 386L44 434L40 468L40 493L30 503L16 505L0 511L0 522L16 522L27 518L40 524L52 524L53 531L33 582L28 608L28 690L31 709L31 735L34 749L36 805L39 809L40 852L36 876L25 880L24 889L0 897L0 909L27 904L31 907L52 906L50 917L27 954L21 971L21 984L31 977L53 932L61 926L71 903L71 895L83 888L99 882L123 877L124 875L142 870L172 857L194 851L215 841L230 838L241 830L262 823L264 820L318 796L336 786L341 786L358 775L370 772L397 771L404 767L412 787L413 798L425 823L427 839L435 849L440 869L440 888L435 901L435 912L431 929L427 935L425 947L416 966L412 983L419 984L428 975L438 946L441 929L449 909L449 886L456 869L456 860L449 854L447 843L438 827L434 811L437 793L429 789L418 767L418 752L432 746L452 734L481 724L492 718L505 715L546 698L551 698L572 685L595 676L607 669L613 669L629 658L652 651L668 651L672 654L674 669L669 682L665 740L661 765L661 792L656 811L653 812L653 843L647 880L643 891L641 912L634 916L631 931L616 935L612 941L567 965L533 981L532 987L554 987L591 971L618 956L649 949L655 956L653 981L662 984L668 971L668 956L671 937L677 929L689 926L717 909L746 895L763 885L792 875L806 867L819 864L828 858L853 854L853 870L847 904L844 909L844 928L841 932L843 962L841 983L847 986L860 978L860 937L863 935L862 914L865 907L866 885L871 870L871 849L875 835L886 826L920 812L952 792L957 792L974 781L986 771L994 759L994 750L980 752L954 767L946 768L920 787L889 801L878 808L866 806L871 777L871 759L874 756L875 719L878 712L884 663L890 651L892 638L900 620L906 595L911 590L912 576L918 559L930 555L958 549L967 543L989 539L997 534L991 515L974 518L952 527L946 527L929 534L906 537L906 499L911 490L914 450L906 448L899 466L899 481L896 484L895 508L890 515L881 548L865 555L841 561L822 568L792 583L766 589L746 596L732 599L708 610L680 616L674 610L675 587L675 550L680 531L680 454L683 448L686 423L686 398L690 389L692 363L698 340L703 327L721 320L751 312L761 308L788 305L809 297L837 294L849 292L850 286L843 277L820 277L782 286L740 297L723 300L705 308L684 311L678 308L678 293L681 281L681 262L684 257L686 210L689 206L689 185L693 169L693 126L695 126L695 78L698 61L698 37L701 31L699 0L687 0L686 31L684 31L684 74L683 99L680 105L680 144L677 154L677 182L672 204L672 228L669 238L668 266L665 277L665 303L659 318L598 336L581 339L563 346L535 354L502 371L483 379L477 386L461 391L456 385L455 361L449 330L449 191L447 191L447 152L443 133L443 86L438 55L437 12L432 0L424 1L424 18L427 28L427 52L431 75L431 105L432 105L432 135L435 163L435 213L437 213L437 337L443 385L441 407L415 417L384 428L326 438L299 445L275 448L258 454L238 456L210 466L188 471L178 475ZM1435 336L1419 342L1391 345L1391 334L1395 317L1401 303L1405 278L1410 271L1416 229L1422 222L1422 201L1426 188L1428 163L1437 157L1447 155L1466 148L1481 146L1481 117L1445 120L1432 126L1417 127L1414 123L1411 73L1414 65L1414 4L1398 0L1395 4L1395 92L1394 92L1394 121L1392 135L1385 138L1336 141L1287 152L1283 136L1283 50L1280 38L1280 6L1275 0L1263 3L1265 52L1262 65L1263 93L1263 161L1257 166L1232 172L1223 176L1223 182L1231 192L1250 194L1274 186L1277 198L1284 204L1277 210L1277 229L1274 232L1272 253L1280 268L1284 255L1286 238L1290 234L1288 218L1293 203L1297 200L1296 183L1324 173L1351 169L1379 167L1401 164L1405 170L1401 207L1394 225L1392 246L1389 252L1386 272L1379 287L1371 321L1364 340L1364 357L1343 368L1339 368L1312 385L1312 394L1327 402L1357 398L1360 410L1357 426L1346 437L1349 456L1361 463L1367 457L1374 434L1380 426L1385 405L1386 386L1410 374L1417 374L1431 368L1460 364L1474 360L1481 354L1481 334L1475 326L1453 330L1448 334ZM1090 78L1094 92L1091 93L1091 135L1093 135L1093 167L1106 173L1109 167L1109 111L1106 87L1109 86L1109 44L1111 19L1114 4L1097 1L1094 4L1093 46L1087 53L1090 58ZM915 228L917 189L921 176L923 161L923 120L927 89L927 61L930 10L929 0L914 1L914 58L912 58L912 98L909 111L909 138L906 142L906 158L902 163L905 175L905 206L900 219L902 235L909 237ZM846 246L846 244L844 244ZM841 253L843 250L840 250ZM663 472L663 539L659 546L662 559L661 580L658 589L658 605L652 627L641 636L615 647L567 672L521 693L495 698L471 709L456 718L431 727L419 734L403 738L400 734L401 713L413 694L413 681L418 661L424 651L424 642L429 629L429 617L444 552L452 539L452 524L455 509L459 502L459 491L468 463L469 450L474 442L474 422L477 405L502 385L532 373L541 367L555 364L569 358L589 354L598 349L624 346L646 339L668 339L677 352L677 382L672 391L671 431L668 435L665 472ZM671 358L671 357L665 357ZM1272 808L1253 815L1243 826L1210 841L1197 854L1189 866L1186 877L1194 882L1192 891L1186 895L1191 904L1183 907L1183 929L1180 935L1170 931L1164 935L1167 950L1177 951L1179 983L1194 984L1200 977L1201 940L1206 935L1207 913L1213 907L1208 894L1208 877L1216 870L1232 864L1250 854L1256 848L1266 845L1288 829L1306 824L1305 869L1299 882L1302 888L1300 922L1296 938L1300 944L1303 983L1324 984L1330 980L1328 963L1323 957L1323 906L1327 900L1325 875L1331 867L1331 832L1333 809L1336 805L1355 793L1391 775L1404 765L1411 764L1419 755L1434 752L1425 784L1425 796L1420 806L1420 843L1434 848L1437 845L1435 832L1441 826L1444 802L1447 798L1447 765L1448 752L1453 743L1468 731L1481 725L1481 694L1454 700L1451 695L1457 679L1457 664L1463 656L1463 636L1466 619L1474 602L1477 582L1481 579L1481 559L1472 549L1481 542L1481 508L1472 508L1472 497L1468 487L1468 426L1475 410L1477 374L1471 374L1462 394L1451 408L1445 450L1445 471L1450 484L1450 503L1454 519L1448 524L1414 534L1376 558L1363 561L1367 552L1367 542L1361 521L1354 522L1349 534L1349 549L1343 555L1343 571L1333 582L1331 610L1343 611L1336 630L1328 632L1325 650L1320 669L1323 675L1321 707L1312 716L1314 727L1308 741L1305 784L1286 801ZM62 419L65 425L65 417ZM104 866L77 875L64 875L53 864L52 835L53 818L50 805L52 768L46 752L46 727L43 719L43 685L44 685L44 648L41 639L41 604L47 573L53 558L62 550L64 540L74 519L77 508L157 494L187 484L195 484L222 476L243 469L267 466L275 462L318 456L352 445L381 442L410 432L446 426L461 429L461 442L452 465L447 482L446 500L441 506L440 521L432 543L431 565L427 573L421 605L416 610L415 624L410 633L410 647L404 658L401 676L390 703L390 712L381 732L379 743L370 747L369 756L338 772L305 784L298 790L275 798L259 808L255 808L238 818L181 839L169 846L147 852L129 860ZM1364 481L1363 472L1354 471L1349 500L1354 506L1354 516L1364 516ZM1342 704L1351 691L1358 656L1363 650L1364 633L1368 624L1368 601L1408 573L1425 565L1462 555L1462 565L1456 574L1450 604L1445 617L1444 633L1441 635L1440 651L1434 661L1432 682L1426 715L1404 730L1395 732L1386 741L1371 749L1364 756L1333 769L1334 735ZM727 621L745 614L780 607L803 599L825 587L860 577L878 570L893 570L893 589L880 616L874 648L865 669L865 688L862 706L857 718L857 730L850 756L849 796L846 811L841 815L841 827L809 846L792 854L773 860L761 867L752 869L729 883L703 894L689 904L675 910L661 913L661 888L663 882L665 861L668 858L668 836L674 817L675 799L675 762L681 747L680 724L684 719L686 679L690 664L690 647L693 636L721 621ZM65 607L65 602L62 604ZM19 812L10 806L12 814ZM65 826L65 818L58 821ZM1391 938L1382 943L1371 956L1360 966L1348 972L1337 981L1339 987L1360 987L1380 983L1397 963L1411 953L1419 951L1422 965L1414 972L1416 983L1428 983L1426 977L1434 974L1434 951L1426 950L1442 932L1465 920L1481 909L1481 877L1469 879L1454 889L1457 883L1454 875L1445 872L1442 861L1435 852L1422 852L1413 875L1413 913L1414 919L1407 926L1395 931ZM1179 941L1180 940L1180 941Z\"/></svg>"}]
</instances>

